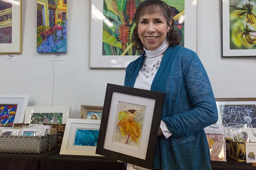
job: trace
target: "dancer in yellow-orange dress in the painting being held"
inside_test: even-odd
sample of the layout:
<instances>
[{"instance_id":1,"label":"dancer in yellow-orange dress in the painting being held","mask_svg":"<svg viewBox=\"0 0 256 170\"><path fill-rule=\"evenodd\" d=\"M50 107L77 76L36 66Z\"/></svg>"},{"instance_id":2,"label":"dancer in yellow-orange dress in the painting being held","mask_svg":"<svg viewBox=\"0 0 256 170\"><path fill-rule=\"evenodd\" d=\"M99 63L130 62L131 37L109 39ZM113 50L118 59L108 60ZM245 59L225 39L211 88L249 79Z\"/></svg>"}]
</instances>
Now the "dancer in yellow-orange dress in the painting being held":
<instances>
[{"instance_id":1,"label":"dancer in yellow-orange dress in the painting being held","mask_svg":"<svg viewBox=\"0 0 256 170\"><path fill-rule=\"evenodd\" d=\"M120 130L123 137L128 136L126 144L128 143L129 138L138 143L138 139L141 137L141 125L133 120L136 117L137 112L137 110L133 109L127 110L125 107L125 111L120 111L118 113L118 120L120 122L117 124L117 127L121 126Z\"/></svg>"}]
</instances>

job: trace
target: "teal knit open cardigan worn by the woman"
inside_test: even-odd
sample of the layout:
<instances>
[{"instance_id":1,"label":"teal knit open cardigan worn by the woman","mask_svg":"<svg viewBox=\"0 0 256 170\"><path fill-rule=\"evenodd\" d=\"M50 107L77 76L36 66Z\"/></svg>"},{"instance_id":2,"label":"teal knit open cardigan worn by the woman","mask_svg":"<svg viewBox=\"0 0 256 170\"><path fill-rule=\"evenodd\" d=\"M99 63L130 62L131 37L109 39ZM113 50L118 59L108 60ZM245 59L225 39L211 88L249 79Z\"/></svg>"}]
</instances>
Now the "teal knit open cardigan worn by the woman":
<instances>
[{"instance_id":1,"label":"teal knit open cardigan worn by the woman","mask_svg":"<svg viewBox=\"0 0 256 170\"><path fill-rule=\"evenodd\" d=\"M134 86L143 61L144 55L127 66L125 86ZM153 169L211 170L203 128L217 122L218 113L198 55L180 46L168 47L151 91L165 93L161 118L172 132L168 139L158 138Z\"/></svg>"}]
</instances>

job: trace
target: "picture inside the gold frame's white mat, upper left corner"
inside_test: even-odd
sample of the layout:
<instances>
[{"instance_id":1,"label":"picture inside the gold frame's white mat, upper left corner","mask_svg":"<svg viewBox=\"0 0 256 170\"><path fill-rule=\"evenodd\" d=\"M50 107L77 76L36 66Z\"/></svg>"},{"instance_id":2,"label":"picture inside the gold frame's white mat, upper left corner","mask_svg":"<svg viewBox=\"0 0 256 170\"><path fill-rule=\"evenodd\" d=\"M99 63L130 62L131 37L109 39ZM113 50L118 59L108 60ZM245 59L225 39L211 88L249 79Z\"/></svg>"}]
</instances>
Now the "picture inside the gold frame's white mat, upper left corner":
<instances>
[{"instance_id":1,"label":"picture inside the gold frame's white mat, upper left corner","mask_svg":"<svg viewBox=\"0 0 256 170\"><path fill-rule=\"evenodd\" d=\"M12 43L12 5L0 0L0 44Z\"/></svg>"}]
</instances>

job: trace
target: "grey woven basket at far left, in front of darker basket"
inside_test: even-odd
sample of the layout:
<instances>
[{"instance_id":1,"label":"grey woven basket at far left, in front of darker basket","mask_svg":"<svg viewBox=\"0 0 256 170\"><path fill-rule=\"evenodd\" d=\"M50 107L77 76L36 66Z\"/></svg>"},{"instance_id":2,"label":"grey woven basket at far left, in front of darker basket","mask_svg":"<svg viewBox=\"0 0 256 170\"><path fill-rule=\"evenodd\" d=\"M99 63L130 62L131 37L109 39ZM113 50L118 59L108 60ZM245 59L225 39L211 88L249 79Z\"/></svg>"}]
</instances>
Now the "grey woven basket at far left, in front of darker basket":
<instances>
[{"instance_id":1,"label":"grey woven basket at far left, in front of darker basket","mask_svg":"<svg viewBox=\"0 0 256 170\"><path fill-rule=\"evenodd\" d=\"M33 153L46 151L47 136L2 136L0 153Z\"/></svg>"}]
</instances>

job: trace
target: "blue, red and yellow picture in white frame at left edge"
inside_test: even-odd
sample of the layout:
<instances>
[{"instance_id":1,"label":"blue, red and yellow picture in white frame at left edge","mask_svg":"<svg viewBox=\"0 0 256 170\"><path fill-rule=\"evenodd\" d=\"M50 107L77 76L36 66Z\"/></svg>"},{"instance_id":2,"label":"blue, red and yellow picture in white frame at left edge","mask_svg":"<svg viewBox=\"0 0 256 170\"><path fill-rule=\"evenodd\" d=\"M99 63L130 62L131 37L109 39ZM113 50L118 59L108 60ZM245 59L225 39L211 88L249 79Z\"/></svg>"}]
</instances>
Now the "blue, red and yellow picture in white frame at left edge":
<instances>
[{"instance_id":1,"label":"blue, red and yellow picture in white frame at left edge","mask_svg":"<svg viewBox=\"0 0 256 170\"><path fill-rule=\"evenodd\" d=\"M16 104L0 104L0 126L13 126L17 106Z\"/></svg>"}]
</instances>

